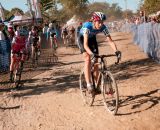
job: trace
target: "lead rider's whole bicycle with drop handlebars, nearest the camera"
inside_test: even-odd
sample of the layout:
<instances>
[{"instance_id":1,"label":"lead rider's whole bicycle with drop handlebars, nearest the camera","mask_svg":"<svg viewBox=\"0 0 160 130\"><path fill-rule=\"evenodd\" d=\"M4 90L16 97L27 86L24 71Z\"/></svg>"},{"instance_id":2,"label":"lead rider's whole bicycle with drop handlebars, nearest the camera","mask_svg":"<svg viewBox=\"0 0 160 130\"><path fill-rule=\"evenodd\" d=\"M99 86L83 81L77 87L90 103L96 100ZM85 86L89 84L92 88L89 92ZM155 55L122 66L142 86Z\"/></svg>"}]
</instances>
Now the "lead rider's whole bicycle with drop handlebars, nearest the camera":
<instances>
[{"instance_id":1,"label":"lead rider's whole bicycle with drop handlebars, nearest the camera","mask_svg":"<svg viewBox=\"0 0 160 130\"><path fill-rule=\"evenodd\" d=\"M87 89L87 84L85 81L84 76L84 70L82 69L79 77L79 86L81 90L81 95L84 100L84 102L92 106L95 96L97 94L103 95L103 103L104 106L109 112L111 112L113 115L116 115L118 111L118 103L119 103L119 93L118 93L118 87L116 84L116 80L113 77L113 74L107 69L104 58L112 57L116 55L97 55L96 58L100 59L98 63L93 63L91 65L91 80L93 84L94 93L90 93ZM118 64L120 60L120 57L117 57L117 61L115 64ZM94 79L94 65L100 65L99 75L97 82ZM100 89L100 90L99 90ZM99 91L100 93L99 93Z\"/></svg>"}]
</instances>

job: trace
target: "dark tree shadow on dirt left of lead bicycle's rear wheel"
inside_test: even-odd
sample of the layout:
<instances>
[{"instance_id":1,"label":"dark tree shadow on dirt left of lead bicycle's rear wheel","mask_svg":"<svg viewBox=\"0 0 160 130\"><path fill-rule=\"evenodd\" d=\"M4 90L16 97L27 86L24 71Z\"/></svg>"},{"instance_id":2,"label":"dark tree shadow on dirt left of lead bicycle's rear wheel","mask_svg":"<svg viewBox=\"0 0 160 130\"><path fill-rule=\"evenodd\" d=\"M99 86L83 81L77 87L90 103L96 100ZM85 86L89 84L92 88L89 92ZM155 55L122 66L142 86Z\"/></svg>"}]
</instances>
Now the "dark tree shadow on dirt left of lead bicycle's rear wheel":
<instances>
[{"instance_id":1,"label":"dark tree shadow on dirt left of lead bicycle's rear wheel","mask_svg":"<svg viewBox=\"0 0 160 130\"><path fill-rule=\"evenodd\" d=\"M37 83L38 79L27 80L28 83ZM79 87L79 74L72 72L54 73L50 78L43 78L43 85L23 86L17 92L13 93L14 97L40 95L47 92L55 91L63 93L71 88Z\"/></svg>"}]
</instances>

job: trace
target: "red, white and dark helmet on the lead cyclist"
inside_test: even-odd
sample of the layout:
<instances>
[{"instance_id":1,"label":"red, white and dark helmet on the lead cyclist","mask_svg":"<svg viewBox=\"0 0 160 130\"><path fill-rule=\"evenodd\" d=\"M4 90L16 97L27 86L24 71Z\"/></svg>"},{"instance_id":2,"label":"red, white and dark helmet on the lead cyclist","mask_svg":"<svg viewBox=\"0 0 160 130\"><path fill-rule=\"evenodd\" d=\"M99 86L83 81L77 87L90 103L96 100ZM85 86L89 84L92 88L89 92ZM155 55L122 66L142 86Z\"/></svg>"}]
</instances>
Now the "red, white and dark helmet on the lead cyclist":
<instances>
[{"instance_id":1,"label":"red, white and dark helmet on the lead cyclist","mask_svg":"<svg viewBox=\"0 0 160 130\"><path fill-rule=\"evenodd\" d=\"M106 20L106 15L102 12L94 12L92 15L92 20L93 21L104 21Z\"/></svg>"}]
</instances>

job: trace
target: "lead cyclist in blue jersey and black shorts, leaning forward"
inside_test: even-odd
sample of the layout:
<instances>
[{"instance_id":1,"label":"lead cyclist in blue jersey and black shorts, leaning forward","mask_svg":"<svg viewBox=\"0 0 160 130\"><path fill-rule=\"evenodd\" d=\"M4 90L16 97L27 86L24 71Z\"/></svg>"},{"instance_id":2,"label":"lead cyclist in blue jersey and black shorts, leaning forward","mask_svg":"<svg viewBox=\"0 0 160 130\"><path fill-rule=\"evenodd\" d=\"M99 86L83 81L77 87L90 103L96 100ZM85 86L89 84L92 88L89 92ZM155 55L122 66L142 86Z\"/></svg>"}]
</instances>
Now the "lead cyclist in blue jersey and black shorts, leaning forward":
<instances>
[{"instance_id":1,"label":"lead cyclist in blue jersey and black shorts, leaning forward","mask_svg":"<svg viewBox=\"0 0 160 130\"><path fill-rule=\"evenodd\" d=\"M96 40L96 34L103 32L108 40L111 48L115 51L117 56L120 56L121 52L117 50L115 43L113 42L107 26L104 25L106 15L102 12L94 12L90 22L85 22L80 30L79 34L79 46L81 53L84 56L84 72L87 88L90 93L94 92L93 85L91 84L91 62L97 62L95 55L99 53L98 44ZM95 77L98 77L98 66L95 66Z\"/></svg>"}]
</instances>

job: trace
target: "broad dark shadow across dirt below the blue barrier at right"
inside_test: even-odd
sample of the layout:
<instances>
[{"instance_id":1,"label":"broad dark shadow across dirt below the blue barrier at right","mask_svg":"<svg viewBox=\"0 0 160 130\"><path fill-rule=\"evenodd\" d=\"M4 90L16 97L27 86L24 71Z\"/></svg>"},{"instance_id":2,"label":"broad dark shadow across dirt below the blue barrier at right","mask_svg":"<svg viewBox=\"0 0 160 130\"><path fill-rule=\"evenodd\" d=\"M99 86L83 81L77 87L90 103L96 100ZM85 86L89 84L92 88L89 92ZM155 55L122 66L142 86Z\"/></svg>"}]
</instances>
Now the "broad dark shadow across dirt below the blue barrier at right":
<instances>
[{"instance_id":1,"label":"broad dark shadow across dirt below the blue barrier at right","mask_svg":"<svg viewBox=\"0 0 160 130\"><path fill-rule=\"evenodd\" d=\"M150 72L158 71L160 66L152 59L146 58L136 61L129 60L119 65L111 65L109 69L116 74L117 80L126 80L147 76Z\"/></svg>"}]
</instances>

